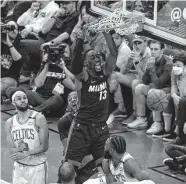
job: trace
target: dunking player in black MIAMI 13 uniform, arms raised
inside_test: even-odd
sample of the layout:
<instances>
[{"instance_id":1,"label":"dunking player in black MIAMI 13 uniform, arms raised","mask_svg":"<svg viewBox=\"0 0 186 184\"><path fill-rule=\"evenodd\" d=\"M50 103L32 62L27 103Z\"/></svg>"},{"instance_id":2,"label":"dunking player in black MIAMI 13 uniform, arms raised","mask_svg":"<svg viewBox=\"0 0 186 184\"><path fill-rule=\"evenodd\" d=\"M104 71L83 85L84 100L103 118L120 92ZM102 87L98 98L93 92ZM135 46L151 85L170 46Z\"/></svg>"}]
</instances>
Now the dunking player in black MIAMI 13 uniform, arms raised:
<instances>
[{"instance_id":1,"label":"dunking player in black MIAMI 13 uniform, arms raised","mask_svg":"<svg viewBox=\"0 0 186 184\"><path fill-rule=\"evenodd\" d=\"M106 63L102 64L102 58L93 49L86 51L85 60L82 59L85 27L77 40L72 61L80 107L75 117L76 126L69 143L67 159L75 166L77 183L83 183L101 165L105 141L109 137L106 124L109 115L107 80L116 66L117 49L111 35L105 33L104 36L110 49ZM86 67L83 67L83 62ZM77 170L84 156L89 154L92 154L93 162Z\"/></svg>"}]
</instances>

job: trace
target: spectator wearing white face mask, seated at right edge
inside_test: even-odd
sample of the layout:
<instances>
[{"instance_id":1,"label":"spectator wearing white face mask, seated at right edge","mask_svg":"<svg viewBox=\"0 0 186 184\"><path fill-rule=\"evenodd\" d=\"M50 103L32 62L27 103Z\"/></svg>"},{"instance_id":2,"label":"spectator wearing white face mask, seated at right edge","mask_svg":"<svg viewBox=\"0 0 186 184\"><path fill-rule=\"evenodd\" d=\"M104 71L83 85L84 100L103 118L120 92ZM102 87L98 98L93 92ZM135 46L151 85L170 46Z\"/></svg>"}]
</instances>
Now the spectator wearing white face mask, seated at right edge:
<instances>
[{"instance_id":1,"label":"spectator wearing white face mask, seated at right edge","mask_svg":"<svg viewBox=\"0 0 186 184\"><path fill-rule=\"evenodd\" d=\"M174 59L172 74L171 74L171 97L174 102L175 114L176 114L176 128L175 132L164 137L165 141L173 141L176 144L185 143L185 135L183 133L183 126L186 122L185 105L186 105L186 56L181 54ZM171 114L168 114L171 116ZM171 122L165 121L165 127L170 127Z\"/></svg>"}]
</instances>

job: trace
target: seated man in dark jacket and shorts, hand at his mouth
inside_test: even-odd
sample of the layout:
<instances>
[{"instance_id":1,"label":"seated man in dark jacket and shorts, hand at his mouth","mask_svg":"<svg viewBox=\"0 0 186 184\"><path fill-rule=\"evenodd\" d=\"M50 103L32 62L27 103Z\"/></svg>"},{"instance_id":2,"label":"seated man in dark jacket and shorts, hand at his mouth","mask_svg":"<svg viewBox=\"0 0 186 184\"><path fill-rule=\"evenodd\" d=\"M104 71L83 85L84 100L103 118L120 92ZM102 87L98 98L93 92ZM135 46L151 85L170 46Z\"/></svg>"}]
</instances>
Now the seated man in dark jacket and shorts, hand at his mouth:
<instances>
[{"instance_id":1,"label":"seated man in dark jacket and shorts, hand at his mouth","mask_svg":"<svg viewBox=\"0 0 186 184\"><path fill-rule=\"evenodd\" d=\"M137 119L128 124L129 128L147 127L145 101L150 89L162 89L166 93L170 93L172 60L169 61L168 58L163 55L163 43L151 40L149 47L152 57L148 60L146 65L146 72L143 75L143 84L138 84L135 88ZM160 112L153 111L153 120L154 123L147 130L148 134L156 134L163 129Z\"/></svg>"}]
</instances>

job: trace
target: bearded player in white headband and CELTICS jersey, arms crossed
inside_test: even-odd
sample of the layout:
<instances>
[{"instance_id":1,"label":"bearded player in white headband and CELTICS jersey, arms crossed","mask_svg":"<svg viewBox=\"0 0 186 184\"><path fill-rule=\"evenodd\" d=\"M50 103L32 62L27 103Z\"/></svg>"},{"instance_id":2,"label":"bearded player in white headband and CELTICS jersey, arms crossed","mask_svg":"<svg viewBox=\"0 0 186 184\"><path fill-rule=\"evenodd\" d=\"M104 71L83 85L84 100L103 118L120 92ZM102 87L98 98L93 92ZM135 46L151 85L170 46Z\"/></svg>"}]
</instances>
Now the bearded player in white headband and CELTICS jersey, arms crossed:
<instances>
[{"instance_id":1,"label":"bearded player in white headband and CELTICS jersey, arms crossed","mask_svg":"<svg viewBox=\"0 0 186 184\"><path fill-rule=\"evenodd\" d=\"M17 113L6 122L13 184L47 184L48 127L44 116L29 109L24 90L11 95Z\"/></svg>"}]
</instances>

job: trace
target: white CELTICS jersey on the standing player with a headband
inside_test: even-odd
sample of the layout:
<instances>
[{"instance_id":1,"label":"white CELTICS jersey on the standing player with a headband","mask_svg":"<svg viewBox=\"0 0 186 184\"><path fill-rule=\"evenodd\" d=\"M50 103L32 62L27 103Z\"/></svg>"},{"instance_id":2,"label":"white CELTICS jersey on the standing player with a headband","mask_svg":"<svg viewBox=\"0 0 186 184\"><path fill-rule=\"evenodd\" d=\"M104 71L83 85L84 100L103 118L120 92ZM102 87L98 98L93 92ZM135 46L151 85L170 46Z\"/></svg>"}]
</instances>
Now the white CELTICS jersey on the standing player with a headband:
<instances>
[{"instance_id":1,"label":"white CELTICS jersey on the standing player with a headband","mask_svg":"<svg viewBox=\"0 0 186 184\"><path fill-rule=\"evenodd\" d=\"M24 124L19 122L17 114L12 117L11 137L16 148L22 147L24 151L33 150L40 145L39 129L36 125L36 116L39 113L31 111ZM47 160L45 153L31 155L18 162L25 165L39 165Z\"/></svg>"}]
</instances>

